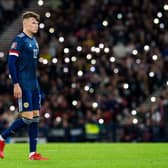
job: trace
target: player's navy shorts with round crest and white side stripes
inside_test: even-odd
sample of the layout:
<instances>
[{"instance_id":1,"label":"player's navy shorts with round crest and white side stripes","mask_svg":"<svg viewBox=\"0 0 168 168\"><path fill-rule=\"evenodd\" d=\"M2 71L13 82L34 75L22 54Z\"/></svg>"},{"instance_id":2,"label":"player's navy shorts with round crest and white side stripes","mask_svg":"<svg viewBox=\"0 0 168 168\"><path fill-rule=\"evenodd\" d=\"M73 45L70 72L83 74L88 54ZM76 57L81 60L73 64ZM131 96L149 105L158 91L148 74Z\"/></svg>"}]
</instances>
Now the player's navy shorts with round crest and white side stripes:
<instances>
[{"instance_id":1,"label":"player's navy shorts with round crest and white side stripes","mask_svg":"<svg viewBox=\"0 0 168 168\"><path fill-rule=\"evenodd\" d=\"M22 89L22 97L18 99L19 112L40 110L41 94L38 89Z\"/></svg>"}]
</instances>

